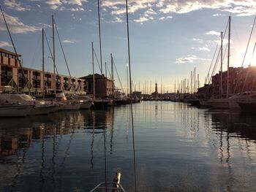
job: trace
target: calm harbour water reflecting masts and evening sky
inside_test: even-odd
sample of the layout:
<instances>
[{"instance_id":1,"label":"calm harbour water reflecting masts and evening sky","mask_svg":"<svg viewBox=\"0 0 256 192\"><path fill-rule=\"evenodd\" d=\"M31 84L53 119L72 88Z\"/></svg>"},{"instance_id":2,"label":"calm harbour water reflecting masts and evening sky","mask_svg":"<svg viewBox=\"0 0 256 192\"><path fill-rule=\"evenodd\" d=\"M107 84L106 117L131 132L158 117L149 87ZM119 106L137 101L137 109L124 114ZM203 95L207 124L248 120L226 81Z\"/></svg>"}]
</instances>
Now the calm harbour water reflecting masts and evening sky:
<instances>
[{"instance_id":1,"label":"calm harbour water reflecting masts and evening sky","mask_svg":"<svg viewBox=\"0 0 256 192\"><path fill-rule=\"evenodd\" d=\"M168 101L133 112L138 191L255 191L255 115ZM0 152L0 191L90 191L117 170L135 191L129 105L1 118Z\"/></svg>"}]
</instances>

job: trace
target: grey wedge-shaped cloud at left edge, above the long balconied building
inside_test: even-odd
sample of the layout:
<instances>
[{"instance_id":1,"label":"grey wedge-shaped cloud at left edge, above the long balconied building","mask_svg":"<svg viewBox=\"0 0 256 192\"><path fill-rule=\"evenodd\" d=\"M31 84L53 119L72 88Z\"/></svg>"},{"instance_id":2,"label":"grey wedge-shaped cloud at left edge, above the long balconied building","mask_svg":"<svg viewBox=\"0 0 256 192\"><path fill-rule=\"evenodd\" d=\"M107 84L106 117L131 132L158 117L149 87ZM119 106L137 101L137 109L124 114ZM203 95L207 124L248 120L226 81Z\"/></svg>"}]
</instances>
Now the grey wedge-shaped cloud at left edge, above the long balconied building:
<instances>
[{"instance_id":1,"label":"grey wedge-shaped cloud at left edge, above the long balconied building","mask_svg":"<svg viewBox=\"0 0 256 192\"><path fill-rule=\"evenodd\" d=\"M27 26L24 23L22 23L19 18L12 17L11 15L7 15L6 13L4 13L4 16L5 19L7 20L7 25L12 33L26 34L41 30L37 26ZM0 31L7 31L3 17L0 17Z\"/></svg>"}]
</instances>

